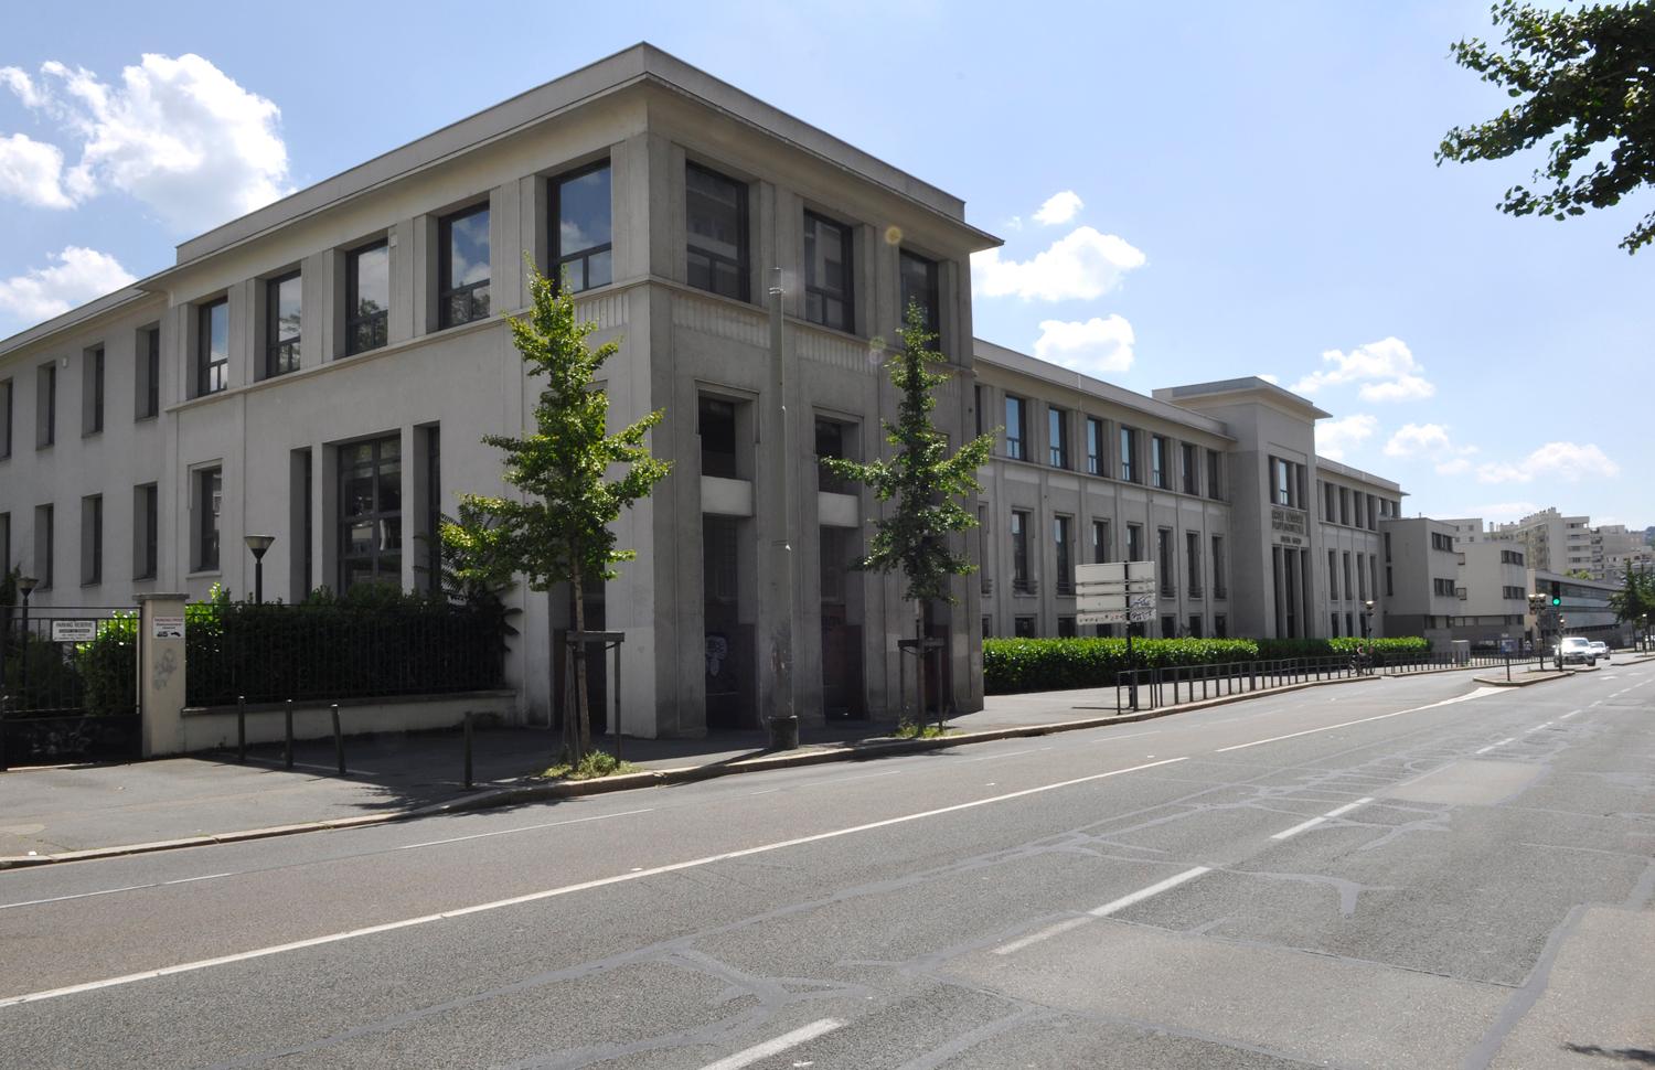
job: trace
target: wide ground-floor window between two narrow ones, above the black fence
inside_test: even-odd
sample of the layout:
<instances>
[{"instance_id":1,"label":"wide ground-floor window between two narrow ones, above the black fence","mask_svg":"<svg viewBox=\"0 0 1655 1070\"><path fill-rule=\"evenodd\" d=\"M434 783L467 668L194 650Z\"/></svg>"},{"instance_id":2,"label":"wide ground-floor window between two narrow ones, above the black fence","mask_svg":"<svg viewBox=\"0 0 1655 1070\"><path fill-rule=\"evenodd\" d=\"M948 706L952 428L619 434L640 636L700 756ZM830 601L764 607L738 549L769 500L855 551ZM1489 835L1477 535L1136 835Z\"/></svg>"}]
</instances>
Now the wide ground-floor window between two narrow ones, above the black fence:
<instances>
[{"instance_id":1,"label":"wide ground-floor window between two narrow ones, above the black fence","mask_svg":"<svg viewBox=\"0 0 1655 1070\"><path fill-rule=\"evenodd\" d=\"M339 447L339 594L402 585L402 440Z\"/></svg>"}]
</instances>

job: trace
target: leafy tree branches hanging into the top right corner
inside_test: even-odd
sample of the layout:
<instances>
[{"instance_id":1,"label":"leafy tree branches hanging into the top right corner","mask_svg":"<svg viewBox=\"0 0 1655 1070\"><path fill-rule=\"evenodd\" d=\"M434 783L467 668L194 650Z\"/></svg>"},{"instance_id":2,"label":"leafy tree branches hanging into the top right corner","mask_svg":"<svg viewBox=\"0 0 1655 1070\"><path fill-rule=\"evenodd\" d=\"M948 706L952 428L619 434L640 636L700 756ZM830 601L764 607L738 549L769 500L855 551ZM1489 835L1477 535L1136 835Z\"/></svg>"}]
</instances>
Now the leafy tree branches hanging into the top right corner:
<instances>
[{"instance_id":1,"label":"leafy tree branches hanging into the top right corner","mask_svg":"<svg viewBox=\"0 0 1655 1070\"><path fill-rule=\"evenodd\" d=\"M1554 10L1501 0L1493 18L1504 31L1504 51L1471 38L1453 45L1451 55L1519 103L1448 131L1438 165L1498 160L1549 141L1534 182L1551 189L1514 185L1499 210L1557 220L1655 184L1655 3ZM1635 253L1650 241L1655 212L1620 246Z\"/></svg>"}]
</instances>

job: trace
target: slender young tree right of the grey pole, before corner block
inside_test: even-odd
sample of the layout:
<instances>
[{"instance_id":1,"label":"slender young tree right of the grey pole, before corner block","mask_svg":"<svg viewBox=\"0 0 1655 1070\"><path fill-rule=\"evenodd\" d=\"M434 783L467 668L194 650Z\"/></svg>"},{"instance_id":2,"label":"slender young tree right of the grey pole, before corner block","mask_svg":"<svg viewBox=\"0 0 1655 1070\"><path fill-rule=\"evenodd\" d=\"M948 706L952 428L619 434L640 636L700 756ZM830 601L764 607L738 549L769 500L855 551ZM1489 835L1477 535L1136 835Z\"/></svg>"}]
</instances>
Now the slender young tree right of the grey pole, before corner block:
<instances>
[{"instance_id":1,"label":"slender young tree right of the grey pole, before corner block","mask_svg":"<svg viewBox=\"0 0 1655 1070\"><path fill-rule=\"evenodd\" d=\"M935 390L948 382L932 370L943 356L932 349L937 336L925 329L925 316L910 303L900 331L902 349L887 364L890 382L902 395L897 420L884 422L885 442L895 447L889 460L851 461L823 458L834 475L866 483L874 498L895 503L889 516L874 521L874 537L859 567L871 572L902 572L904 599L915 602L914 637L920 640L920 718L925 716L923 640L935 602L955 602L953 577L976 571L970 557L950 546L950 536L976 528L976 516L962 499L981 490L976 470L988 461L991 435L980 435L953 455L948 438L937 430L932 412ZM938 703L940 708L940 703ZM940 721L940 716L938 716Z\"/></svg>"}]
</instances>

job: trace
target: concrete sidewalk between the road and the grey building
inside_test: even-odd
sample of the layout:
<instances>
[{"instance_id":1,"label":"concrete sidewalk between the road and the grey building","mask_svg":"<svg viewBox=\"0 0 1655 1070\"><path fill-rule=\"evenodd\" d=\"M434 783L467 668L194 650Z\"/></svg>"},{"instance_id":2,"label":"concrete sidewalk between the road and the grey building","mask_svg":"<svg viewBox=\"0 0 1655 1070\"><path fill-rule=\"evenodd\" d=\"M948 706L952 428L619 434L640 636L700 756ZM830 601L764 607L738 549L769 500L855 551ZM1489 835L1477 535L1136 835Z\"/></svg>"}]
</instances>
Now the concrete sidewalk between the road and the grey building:
<instances>
[{"instance_id":1,"label":"concrete sidewalk between the road and the grey building","mask_svg":"<svg viewBox=\"0 0 1655 1070\"><path fill-rule=\"evenodd\" d=\"M1302 686L1317 685L1273 688L1258 695L1281 695ZM210 754L116 766L15 769L0 774L0 868L68 860L83 852L164 850L218 838L343 829L551 794L589 794L766 767L877 757L996 734L1044 734L1165 716L1250 696L1117 718L1114 688L998 695L988 698L985 709L952 718L952 734L945 741L897 741L890 736L894 723L832 721L804 729L801 748L786 752L766 751L768 741L760 731L717 733L703 739L627 738L622 756L647 776L574 786L546 782L540 776L559 748L558 736L544 728L478 731L470 791L462 782L463 738L458 731L348 738L344 777L336 772L333 741L300 743L293 769L283 767L280 746L250 748L247 764L237 762L233 754ZM612 749L609 736L596 743Z\"/></svg>"}]
</instances>

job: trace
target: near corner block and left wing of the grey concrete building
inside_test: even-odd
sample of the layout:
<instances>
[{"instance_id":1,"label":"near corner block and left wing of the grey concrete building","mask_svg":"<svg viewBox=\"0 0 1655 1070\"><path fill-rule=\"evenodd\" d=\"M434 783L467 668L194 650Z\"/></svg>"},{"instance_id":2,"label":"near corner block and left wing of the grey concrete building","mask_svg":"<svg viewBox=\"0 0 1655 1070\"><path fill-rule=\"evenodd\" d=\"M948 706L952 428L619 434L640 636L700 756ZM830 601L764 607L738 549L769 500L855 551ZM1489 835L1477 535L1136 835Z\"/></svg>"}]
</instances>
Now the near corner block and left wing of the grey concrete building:
<instances>
[{"instance_id":1,"label":"near corner block and left wing of the grey concrete building","mask_svg":"<svg viewBox=\"0 0 1655 1070\"><path fill-rule=\"evenodd\" d=\"M174 266L0 344L7 556L41 579L43 605L248 592L250 533L276 537L265 587L288 599L427 582L439 511L506 490L482 435L531 422L536 384L500 318L528 303L526 258L576 291L594 342L621 342L612 418L667 413L652 447L674 473L619 523L639 559L588 592L589 623L626 632L626 729L753 724L789 638L806 719L884 709L912 607L899 579L849 571L874 503L818 485L816 453L880 448L895 395L874 339L907 301L957 372L937 418L962 440L968 258L995 243L957 197L636 46L192 238ZM510 671L541 711L549 658L525 652L548 650L569 595L518 597ZM938 623L965 709L981 701L976 599L962 580Z\"/></svg>"}]
</instances>

